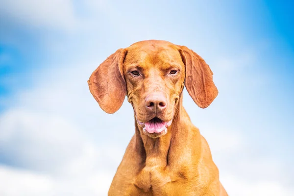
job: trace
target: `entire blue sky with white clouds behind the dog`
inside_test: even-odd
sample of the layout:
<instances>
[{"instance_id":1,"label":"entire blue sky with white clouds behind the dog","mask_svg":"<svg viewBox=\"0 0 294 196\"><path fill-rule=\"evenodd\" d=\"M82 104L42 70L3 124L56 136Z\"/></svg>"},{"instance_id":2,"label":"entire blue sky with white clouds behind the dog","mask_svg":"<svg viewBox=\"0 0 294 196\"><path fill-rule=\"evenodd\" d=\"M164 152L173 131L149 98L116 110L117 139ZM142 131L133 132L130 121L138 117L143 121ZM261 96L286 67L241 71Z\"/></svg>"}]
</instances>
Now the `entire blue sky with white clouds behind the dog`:
<instances>
[{"instance_id":1,"label":"entire blue sky with white clouds behind the dog","mask_svg":"<svg viewBox=\"0 0 294 196\"><path fill-rule=\"evenodd\" d=\"M91 73L149 39L196 51L218 97L183 105L232 196L294 195L294 3L0 0L0 195L104 196L134 134L106 114Z\"/></svg>"}]
</instances>

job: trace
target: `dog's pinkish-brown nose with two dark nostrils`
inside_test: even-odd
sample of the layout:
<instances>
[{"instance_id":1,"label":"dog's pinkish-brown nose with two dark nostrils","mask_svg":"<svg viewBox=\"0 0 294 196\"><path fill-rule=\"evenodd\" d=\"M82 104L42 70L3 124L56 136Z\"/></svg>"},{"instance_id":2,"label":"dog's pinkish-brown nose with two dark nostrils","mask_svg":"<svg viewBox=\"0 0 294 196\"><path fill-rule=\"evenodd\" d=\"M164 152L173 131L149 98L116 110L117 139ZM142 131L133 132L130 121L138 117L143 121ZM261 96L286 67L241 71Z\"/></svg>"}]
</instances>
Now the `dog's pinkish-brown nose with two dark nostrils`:
<instances>
[{"instance_id":1,"label":"dog's pinkish-brown nose with two dark nostrils","mask_svg":"<svg viewBox=\"0 0 294 196\"><path fill-rule=\"evenodd\" d=\"M167 107L167 99L162 94L151 94L147 96L145 105L150 111L163 111Z\"/></svg>"}]
</instances>

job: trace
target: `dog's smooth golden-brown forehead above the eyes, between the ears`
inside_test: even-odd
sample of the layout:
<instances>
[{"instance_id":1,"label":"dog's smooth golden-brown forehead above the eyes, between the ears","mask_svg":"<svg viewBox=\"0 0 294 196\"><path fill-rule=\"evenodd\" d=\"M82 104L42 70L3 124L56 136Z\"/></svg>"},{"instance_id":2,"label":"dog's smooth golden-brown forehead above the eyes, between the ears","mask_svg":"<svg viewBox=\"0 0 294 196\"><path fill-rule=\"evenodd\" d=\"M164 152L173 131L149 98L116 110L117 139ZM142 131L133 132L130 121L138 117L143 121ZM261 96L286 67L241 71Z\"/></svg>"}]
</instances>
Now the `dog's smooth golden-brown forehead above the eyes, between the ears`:
<instances>
[{"instance_id":1,"label":"dog's smooth golden-brown forehead above the eyes, between the ears","mask_svg":"<svg viewBox=\"0 0 294 196\"><path fill-rule=\"evenodd\" d=\"M125 63L162 65L182 61L178 48L165 41L142 41L127 48Z\"/></svg>"}]
</instances>

